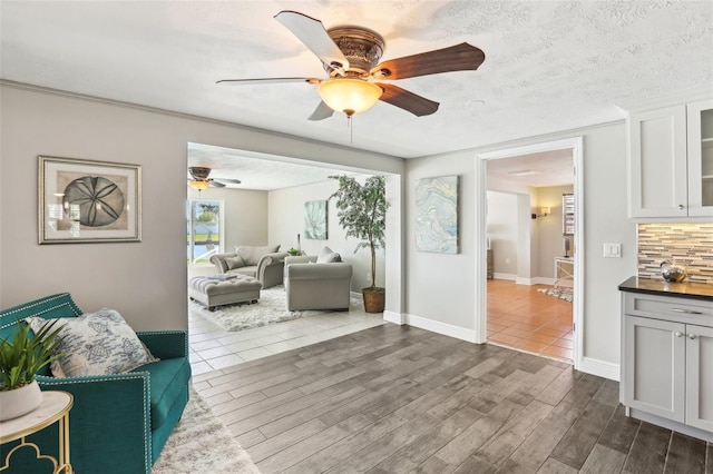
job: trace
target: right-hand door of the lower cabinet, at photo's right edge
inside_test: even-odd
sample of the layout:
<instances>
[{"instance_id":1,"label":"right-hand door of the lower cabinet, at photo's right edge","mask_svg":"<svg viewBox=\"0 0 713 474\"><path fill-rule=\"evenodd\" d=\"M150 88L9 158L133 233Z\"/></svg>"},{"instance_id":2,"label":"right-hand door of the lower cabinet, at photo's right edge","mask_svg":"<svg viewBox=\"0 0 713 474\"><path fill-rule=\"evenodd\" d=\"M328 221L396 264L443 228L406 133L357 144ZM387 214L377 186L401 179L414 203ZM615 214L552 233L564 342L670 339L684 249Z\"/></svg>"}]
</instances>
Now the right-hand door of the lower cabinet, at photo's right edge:
<instances>
[{"instance_id":1,"label":"right-hand door of the lower cabinet, at photo's right edge","mask_svg":"<svg viewBox=\"0 0 713 474\"><path fill-rule=\"evenodd\" d=\"M713 328L686 325L686 424L713 432Z\"/></svg>"}]
</instances>

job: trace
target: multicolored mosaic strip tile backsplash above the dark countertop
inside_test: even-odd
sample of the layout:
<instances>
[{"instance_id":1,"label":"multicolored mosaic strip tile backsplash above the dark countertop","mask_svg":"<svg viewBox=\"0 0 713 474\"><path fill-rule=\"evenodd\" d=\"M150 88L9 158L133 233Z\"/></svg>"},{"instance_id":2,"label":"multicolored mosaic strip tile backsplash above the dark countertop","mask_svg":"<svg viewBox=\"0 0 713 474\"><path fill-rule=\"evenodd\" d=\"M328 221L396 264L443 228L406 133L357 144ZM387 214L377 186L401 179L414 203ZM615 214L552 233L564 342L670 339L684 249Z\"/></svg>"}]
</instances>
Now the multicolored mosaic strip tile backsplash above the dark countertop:
<instances>
[{"instance_id":1,"label":"multicolored mosaic strip tile backsplash above the dark countertop","mask_svg":"<svg viewBox=\"0 0 713 474\"><path fill-rule=\"evenodd\" d=\"M638 276L661 279L664 260L685 266L685 282L713 284L713 223L639 224Z\"/></svg>"}]
</instances>

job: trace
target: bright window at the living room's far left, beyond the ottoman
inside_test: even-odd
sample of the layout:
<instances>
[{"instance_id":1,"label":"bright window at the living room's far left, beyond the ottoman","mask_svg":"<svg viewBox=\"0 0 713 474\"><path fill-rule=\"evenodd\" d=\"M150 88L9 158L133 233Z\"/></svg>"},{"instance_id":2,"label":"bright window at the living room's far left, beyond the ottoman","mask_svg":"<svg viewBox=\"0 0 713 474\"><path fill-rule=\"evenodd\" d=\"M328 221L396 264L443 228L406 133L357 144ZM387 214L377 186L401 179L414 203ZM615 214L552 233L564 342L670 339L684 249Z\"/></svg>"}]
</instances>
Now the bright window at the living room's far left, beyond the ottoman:
<instances>
[{"instance_id":1,"label":"bright window at the living room's far left, beyond the ottoman","mask_svg":"<svg viewBox=\"0 0 713 474\"><path fill-rule=\"evenodd\" d=\"M223 201L197 199L186 203L188 264L207 264L223 250Z\"/></svg>"}]
</instances>

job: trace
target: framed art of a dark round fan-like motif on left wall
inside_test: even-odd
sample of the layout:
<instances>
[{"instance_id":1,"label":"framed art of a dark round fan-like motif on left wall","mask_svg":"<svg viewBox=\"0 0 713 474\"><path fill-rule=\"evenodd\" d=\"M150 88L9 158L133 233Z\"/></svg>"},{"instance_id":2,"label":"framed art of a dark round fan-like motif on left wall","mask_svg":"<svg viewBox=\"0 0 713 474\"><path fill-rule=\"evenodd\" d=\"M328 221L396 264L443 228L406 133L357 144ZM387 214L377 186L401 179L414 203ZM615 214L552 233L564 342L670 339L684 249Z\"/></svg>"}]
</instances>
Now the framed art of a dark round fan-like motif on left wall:
<instances>
[{"instance_id":1,"label":"framed art of a dark round fan-like motif on left wall","mask_svg":"<svg viewBox=\"0 0 713 474\"><path fill-rule=\"evenodd\" d=\"M40 156L39 243L141 240L141 167Z\"/></svg>"}]
</instances>

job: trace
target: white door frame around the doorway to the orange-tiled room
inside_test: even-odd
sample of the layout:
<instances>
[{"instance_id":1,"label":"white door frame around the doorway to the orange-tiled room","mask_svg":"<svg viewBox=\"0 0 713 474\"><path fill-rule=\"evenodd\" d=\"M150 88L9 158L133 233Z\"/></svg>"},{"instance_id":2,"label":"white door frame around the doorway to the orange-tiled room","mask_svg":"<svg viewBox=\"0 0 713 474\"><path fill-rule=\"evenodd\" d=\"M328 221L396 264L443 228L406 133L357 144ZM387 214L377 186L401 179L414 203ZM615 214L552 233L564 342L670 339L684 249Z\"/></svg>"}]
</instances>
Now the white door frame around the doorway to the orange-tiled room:
<instances>
[{"instance_id":1,"label":"white door frame around the doorway to the orange-tiled room","mask_svg":"<svg viewBox=\"0 0 713 474\"><path fill-rule=\"evenodd\" d=\"M584 342L584 149L583 138L574 137L561 140L545 141L541 144L526 145L521 147L506 148L497 151L481 152L476 156L476 338L478 343L487 342L488 292L487 292L487 161L491 159L514 158L521 155L531 155L543 151L561 149L572 150L575 174L575 285L573 300L574 347L573 363L575 369L579 369L583 362Z\"/></svg>"}]
</instances>

